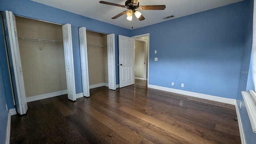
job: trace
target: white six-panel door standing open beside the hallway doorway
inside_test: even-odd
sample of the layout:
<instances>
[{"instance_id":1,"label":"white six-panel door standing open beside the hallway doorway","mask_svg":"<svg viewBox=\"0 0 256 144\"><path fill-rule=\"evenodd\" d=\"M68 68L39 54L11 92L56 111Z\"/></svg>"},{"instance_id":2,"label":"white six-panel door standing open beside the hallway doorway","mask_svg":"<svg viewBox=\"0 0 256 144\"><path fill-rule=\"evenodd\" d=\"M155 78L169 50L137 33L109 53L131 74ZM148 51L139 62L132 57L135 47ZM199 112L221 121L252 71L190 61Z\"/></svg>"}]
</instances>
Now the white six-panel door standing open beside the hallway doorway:
<instances>
[{"instance_id":1,"label":"white six-panel door standing open beside the hallway doorway","mask_svg":"<svg viewBox=\"0 0 256 144\"><path fill-rule=\"evenodd\" d=\"M134 39L118 35L120 88L134 84Z\"/></svg>"}]
</instances>

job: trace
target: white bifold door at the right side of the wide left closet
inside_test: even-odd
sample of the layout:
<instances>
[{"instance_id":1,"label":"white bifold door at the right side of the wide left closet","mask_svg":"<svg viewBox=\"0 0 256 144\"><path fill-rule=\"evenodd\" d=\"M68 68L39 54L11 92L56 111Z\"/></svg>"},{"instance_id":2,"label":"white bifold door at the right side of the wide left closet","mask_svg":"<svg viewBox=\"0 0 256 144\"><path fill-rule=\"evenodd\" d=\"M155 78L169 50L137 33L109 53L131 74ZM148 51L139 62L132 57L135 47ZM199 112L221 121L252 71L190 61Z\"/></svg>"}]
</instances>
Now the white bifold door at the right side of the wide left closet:
<instances>
[{"instance_id":1,"label":"white bifold door at the right side of the wide left closet","mask_svg":"<svg viewBox=\"0 0 256 144\"><path fill-rule=\"evenodd\" d=\"M62 26L68 99L76 100L71 25Z\"/></svg>"}]
</instances>

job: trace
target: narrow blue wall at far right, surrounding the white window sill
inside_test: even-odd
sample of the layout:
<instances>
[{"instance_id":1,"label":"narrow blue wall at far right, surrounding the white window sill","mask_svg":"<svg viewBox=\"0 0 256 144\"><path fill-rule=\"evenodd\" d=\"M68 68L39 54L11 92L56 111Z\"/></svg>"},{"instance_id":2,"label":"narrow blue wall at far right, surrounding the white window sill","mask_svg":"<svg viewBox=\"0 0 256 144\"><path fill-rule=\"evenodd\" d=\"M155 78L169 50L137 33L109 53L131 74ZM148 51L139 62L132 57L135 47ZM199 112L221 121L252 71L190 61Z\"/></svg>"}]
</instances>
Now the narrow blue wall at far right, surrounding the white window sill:
<instances>
[{"instance_id":1,"label":"narrow blue wall at far right, surrounding the white window sill","mask_svg":"<svg viewBox=\"0 0 256 144\"><path fill-rule=\"evenodd\" d=\"M237 104L242 107L239 110L240 118L244 129L244 135L247 144L255 144L256 134L252 132L252 126L248 117L241 91L254 90L252 77L252 18L253 18L253 0L246 0L246 29L244 36L244 49L242 53L242 62L240 68L240 78L237 92ZM245 73L244 73L245 72Z\"/></svg>"}]
</instances>

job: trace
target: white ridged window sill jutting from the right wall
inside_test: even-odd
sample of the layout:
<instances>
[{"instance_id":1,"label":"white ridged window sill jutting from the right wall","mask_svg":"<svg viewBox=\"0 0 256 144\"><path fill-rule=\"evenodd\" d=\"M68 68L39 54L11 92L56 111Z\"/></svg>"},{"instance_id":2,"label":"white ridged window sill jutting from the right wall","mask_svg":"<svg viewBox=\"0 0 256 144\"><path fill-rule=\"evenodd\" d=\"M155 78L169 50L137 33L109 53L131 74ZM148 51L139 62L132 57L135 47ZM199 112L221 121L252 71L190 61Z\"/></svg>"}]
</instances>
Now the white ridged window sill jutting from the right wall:
<instances>
[{"instance_id":1,"label":"white ridged window sill jutting from the right wall","mask_svg":"<svg viewBox=\"0 0 256 144\"><path fill-rule=\"evenodd\" d=\"M250 118L252 131L256 133L256 93L253 90L250 90L249 92L242 91L241 93Z\"/></svg>"}]
</instances>

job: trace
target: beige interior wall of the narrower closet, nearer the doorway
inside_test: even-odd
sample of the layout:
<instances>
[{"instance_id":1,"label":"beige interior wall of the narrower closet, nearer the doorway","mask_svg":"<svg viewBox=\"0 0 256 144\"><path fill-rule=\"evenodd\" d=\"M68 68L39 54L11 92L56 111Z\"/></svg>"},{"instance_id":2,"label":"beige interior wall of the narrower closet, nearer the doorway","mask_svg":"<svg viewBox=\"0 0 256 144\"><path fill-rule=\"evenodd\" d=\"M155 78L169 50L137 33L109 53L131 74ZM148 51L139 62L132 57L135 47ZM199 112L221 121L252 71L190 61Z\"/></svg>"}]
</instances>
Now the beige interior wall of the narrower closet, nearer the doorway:
<instances>
[{"instance_id":1,"label":"beige interior wall of the narrower closet, nearer the doorway","mask_svg":"<svg viewBox=\"0 0 256 144\"><path fill-rule=\"evenodd\" d=\"M89 85L106 86L108 84L107 35L86 30L86 40L88 44Z\"/></svg>"}]
</instances>

